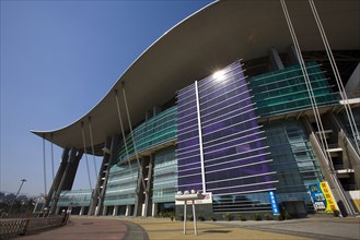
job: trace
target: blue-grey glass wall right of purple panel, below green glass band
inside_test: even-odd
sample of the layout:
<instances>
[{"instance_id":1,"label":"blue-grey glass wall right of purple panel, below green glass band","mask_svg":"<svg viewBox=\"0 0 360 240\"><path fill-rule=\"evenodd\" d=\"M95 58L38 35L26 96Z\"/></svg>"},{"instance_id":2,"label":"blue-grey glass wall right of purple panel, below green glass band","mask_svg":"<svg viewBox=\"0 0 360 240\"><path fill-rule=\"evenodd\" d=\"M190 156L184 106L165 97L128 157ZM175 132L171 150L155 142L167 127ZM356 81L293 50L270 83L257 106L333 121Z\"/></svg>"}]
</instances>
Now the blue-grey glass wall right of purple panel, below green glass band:
<instances>
[{"instance_id":1,"label":"blue-grey glass wall right of purple panel, below green glass band","mask_svg":"<svg viewBox=\"0 0 360 240\"><path fill-rule=\"evenodd\" d=\"M307 184L321 182L323 177L302 124L295 119L277 120L266 122L264 130L274 159L270 168L279 180L278 201L311 202Z\"/></svg>"}]
</instances>

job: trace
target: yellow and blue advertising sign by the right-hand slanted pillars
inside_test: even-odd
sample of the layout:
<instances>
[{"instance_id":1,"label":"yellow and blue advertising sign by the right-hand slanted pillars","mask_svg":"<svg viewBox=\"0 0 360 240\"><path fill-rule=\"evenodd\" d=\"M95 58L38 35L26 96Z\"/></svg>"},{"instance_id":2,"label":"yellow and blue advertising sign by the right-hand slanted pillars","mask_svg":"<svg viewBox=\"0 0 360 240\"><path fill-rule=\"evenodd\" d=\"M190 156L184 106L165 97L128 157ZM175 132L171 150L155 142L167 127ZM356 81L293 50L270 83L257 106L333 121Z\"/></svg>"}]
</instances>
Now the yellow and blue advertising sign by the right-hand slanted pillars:
<instances>
[{"instance_id":1,"label":"yellow and blue advertising sign by the right-hand slanted pillars","mask_svg":"<svg viewBox=\"0 0 360 240\"><path fill-rule=\"evenodd\" d=\"M333 212L338 209L326 181L309 184L309 190L316 211Z\"/></svg>"}]
</instances>

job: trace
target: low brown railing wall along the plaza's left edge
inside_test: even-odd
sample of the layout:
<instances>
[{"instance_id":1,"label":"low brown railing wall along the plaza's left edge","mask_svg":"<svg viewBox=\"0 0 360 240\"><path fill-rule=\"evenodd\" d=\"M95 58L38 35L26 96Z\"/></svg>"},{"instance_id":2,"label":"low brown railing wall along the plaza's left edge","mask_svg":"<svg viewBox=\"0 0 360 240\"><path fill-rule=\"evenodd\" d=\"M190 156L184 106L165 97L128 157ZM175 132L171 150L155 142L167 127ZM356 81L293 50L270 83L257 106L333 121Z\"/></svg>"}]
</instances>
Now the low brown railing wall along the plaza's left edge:
<instances>
[{"instance_id":1,"label":"low brown railing wall along the plaza's left edge","mask_svg":"<svg viewBox=\"0 0 360 240\"><path fill-rule=\"evenodd\" d=\"M46 228L59 227L62 219L62 216L0 219L0 239L10 239Z\"/></svg>"}]
</instances>

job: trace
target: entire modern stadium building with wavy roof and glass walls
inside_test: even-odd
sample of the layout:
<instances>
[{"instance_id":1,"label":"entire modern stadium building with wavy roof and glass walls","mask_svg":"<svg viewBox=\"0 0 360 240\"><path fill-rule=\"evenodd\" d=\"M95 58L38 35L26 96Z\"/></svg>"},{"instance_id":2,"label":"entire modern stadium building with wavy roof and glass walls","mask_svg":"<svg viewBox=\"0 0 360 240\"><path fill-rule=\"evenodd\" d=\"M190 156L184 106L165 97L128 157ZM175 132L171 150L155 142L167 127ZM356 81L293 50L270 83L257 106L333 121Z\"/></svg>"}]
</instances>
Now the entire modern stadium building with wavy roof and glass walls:
<instances>
[{"instance_id":1,"label":"entire modern stadium building with wavy roof and glass walls","mask_svg":"<svg viewBox=\"0 0 360 240\"><path fill-rule=\"evenodd\" d=\"M150 46L63 148L45 207L205 218L360 211L360 1L216 1ZM101 156L96 185L72 190Z\"/></svg>"}]
</instances>

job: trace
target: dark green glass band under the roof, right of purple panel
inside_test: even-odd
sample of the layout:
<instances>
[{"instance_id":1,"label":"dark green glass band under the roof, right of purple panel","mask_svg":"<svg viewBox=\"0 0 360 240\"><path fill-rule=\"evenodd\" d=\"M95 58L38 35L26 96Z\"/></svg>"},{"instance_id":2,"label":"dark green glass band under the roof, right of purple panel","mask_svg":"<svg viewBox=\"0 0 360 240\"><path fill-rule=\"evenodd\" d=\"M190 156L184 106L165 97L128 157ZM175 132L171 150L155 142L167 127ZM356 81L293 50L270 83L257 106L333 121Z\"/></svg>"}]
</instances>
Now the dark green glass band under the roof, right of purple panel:
<instances>
[{"instance_id":1,"label":"dark green glass band under the roof, right of purple panel","mask_svg":"<svg viewBox=\"0 0 360 240\"><path fill-rule=\"evenodd\" d=\"M324 72L316 62L307 62L306 71L317 107L337 105ZM257 112L262 117L311 109L305 80L300 65L265 73L248 79Z\"/></svg>"}]
</instances>

